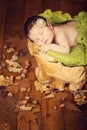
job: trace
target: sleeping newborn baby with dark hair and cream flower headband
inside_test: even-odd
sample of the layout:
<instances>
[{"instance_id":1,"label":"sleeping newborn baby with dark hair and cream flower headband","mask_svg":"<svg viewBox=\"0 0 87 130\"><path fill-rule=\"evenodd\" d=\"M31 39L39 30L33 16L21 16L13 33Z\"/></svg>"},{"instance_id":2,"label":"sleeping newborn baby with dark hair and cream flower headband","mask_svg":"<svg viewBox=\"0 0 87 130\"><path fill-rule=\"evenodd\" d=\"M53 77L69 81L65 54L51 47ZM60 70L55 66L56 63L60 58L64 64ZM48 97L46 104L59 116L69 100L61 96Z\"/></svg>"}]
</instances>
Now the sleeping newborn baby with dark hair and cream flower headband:
<instances>
[{"instance_id":1,"label":"sleeping newborn baby with dark hair and cream flower headband","mask_svg":"<svg viewBox=\"0 0 87 130\"><path fill-rule=\"evenodd\" d=\"M69 21L53 26L42 16L32 16L24 26L25 36L46 53L53 50L69 54L70 49L77 45L78 32L75 29L76 21Z\"/></svg>"}]
</instances>

